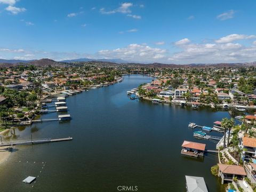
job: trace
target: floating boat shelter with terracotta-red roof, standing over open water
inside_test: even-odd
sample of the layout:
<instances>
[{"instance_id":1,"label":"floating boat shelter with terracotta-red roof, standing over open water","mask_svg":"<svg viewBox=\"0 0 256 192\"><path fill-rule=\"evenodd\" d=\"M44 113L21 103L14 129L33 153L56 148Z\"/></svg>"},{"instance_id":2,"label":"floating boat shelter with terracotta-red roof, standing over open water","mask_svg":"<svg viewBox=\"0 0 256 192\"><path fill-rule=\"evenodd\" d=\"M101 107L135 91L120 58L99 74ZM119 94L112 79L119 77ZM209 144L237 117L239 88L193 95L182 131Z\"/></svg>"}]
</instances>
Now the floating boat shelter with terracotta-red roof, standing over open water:
<instances>
[{"instance_id":1,"label":"floating boat shelter with terracotta-red roof, standing over open water","mask_svg":"<svg viewBox=\"0 0 256 192\"><path fill-rule=\"evenodd\" d=\"M191 157L198 157L203 156L205 151L205 144L204 143L197 143L192 141L184 141L181 145L182 155L187 155Z\"/></svg>"}]
</instances>

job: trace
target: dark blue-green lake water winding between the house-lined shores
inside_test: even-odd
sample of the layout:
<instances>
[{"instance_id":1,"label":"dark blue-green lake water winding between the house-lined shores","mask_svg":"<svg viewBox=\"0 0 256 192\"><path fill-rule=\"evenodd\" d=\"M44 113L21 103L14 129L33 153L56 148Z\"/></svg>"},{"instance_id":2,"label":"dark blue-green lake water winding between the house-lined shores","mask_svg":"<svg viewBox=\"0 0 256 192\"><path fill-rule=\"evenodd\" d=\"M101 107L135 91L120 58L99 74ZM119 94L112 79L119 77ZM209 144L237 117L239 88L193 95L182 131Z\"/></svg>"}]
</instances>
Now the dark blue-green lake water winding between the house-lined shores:
<instances>
[{"instance_id":1,"label":"dark blue-green lake water winding between the house-lined shores","mask_svg":"<svg viewBox=\"0 0 256 192\"><path fill-rule=\"evenodd\" d=\"M229 117L228 112L154 105L126 96L126 91L151 80L125 76L122 83L68 97L70 122L15 129L11 140L28 139L30 134L33 138L73 140L17 147L0 166L0 190L106 192L118 191L118 186L138 186L138 191L147 192L186 191L185 175L194 175L204 177L209 191L221 191L219 179L210 171L217 155L207 154L200 160L182 156L180 151L184 140L215 149L214 142L195 139L188 123L212 126ZM29 175L39 177L31 185L22 183Z\"/></svg>"}]
</instances>

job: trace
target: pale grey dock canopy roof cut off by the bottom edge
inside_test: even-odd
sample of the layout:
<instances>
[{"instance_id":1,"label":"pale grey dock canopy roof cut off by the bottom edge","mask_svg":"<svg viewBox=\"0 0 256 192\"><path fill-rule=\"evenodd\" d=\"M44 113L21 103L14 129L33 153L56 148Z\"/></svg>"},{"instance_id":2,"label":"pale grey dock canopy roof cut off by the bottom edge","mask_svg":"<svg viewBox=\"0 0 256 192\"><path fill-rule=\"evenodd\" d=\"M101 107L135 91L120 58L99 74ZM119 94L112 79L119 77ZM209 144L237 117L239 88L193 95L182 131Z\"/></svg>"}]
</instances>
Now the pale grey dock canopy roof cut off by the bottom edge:
<instances>
[{"instance_id":1,"label":"pale grey dock canopy roof cut off by the bottom edge","mask_svg":"<svg viewBox=\"0 0 256 192\"><path fill-rule=\"evenodd\" d=\"M186 186L188 192L208 192L202 177L194 177L186 175Z\"/></svg>"}]
</instances>

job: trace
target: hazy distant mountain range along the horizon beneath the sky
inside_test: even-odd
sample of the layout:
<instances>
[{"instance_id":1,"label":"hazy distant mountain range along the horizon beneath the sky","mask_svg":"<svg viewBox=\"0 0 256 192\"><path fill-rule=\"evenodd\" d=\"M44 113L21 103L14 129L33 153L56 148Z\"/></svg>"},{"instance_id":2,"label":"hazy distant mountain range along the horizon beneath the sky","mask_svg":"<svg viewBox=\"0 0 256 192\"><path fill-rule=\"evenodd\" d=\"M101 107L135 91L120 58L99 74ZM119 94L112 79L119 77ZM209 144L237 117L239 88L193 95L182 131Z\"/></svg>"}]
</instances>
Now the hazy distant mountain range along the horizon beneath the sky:
<instances>
[{"instance_id":1,"label":"hazy distant mountain range along the horizon beneath the sky","mask_svg":"<svg viewBox=\"0 0 256 192\"><path fill-rule=\"evenodd\" d=\"M90 63L91 65L127 65L127 66L137 66L137 67L148 67L148 68L211 68L211 67L246 67L246 66L256 66L256 61L254 62L244 62L244 63L191 63L187 65L177 65L177 64L164 64L164 63L131 63L126 62L122 59L74 59L74 60L64 60L64 61L54 61L51 59L39 59L39 60L5 60L0 59L0 67L10 67L18 65L35 65L39 67L44 66L63 66L63 65L83 65Z\"/></svg>"}]
</instances>

